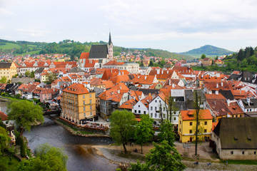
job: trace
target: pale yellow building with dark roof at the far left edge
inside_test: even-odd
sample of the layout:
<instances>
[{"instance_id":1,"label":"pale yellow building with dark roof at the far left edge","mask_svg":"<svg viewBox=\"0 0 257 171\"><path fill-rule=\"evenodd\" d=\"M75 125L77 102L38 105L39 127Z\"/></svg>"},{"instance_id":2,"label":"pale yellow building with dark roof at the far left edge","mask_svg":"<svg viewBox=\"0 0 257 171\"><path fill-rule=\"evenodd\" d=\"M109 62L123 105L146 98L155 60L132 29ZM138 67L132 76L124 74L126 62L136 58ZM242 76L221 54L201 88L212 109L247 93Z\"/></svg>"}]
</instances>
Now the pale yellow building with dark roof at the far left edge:
<instances>
[{"instance_id":1,"label":"pale yellow building with dark roof at the far left edge","mask_svg":"<svg viewBox=\"0 0 257 171\"><path fill-rule=\"evenodd\" d=\"M16 74L17 68L15 63L0 63L0 79L5 76L6 81L9 81Z\"/></svg>"}]
</instances>

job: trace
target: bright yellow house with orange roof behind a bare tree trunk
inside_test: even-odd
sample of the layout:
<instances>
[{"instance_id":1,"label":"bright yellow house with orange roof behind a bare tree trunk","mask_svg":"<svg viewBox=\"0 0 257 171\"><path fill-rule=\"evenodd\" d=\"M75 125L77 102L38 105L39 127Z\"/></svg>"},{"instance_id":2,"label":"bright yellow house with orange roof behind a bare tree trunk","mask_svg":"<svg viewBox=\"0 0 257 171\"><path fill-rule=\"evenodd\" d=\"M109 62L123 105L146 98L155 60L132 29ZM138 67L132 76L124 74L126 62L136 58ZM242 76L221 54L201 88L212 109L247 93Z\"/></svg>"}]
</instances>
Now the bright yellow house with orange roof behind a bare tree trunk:
<instances>
[{"instance_id":1,"label":"bright yellow house with orange roof behind a bare tree trunk","mask_svg":"<svg viewBox=\"0 0 257 171\"><path fill-rule=\"evenodd\" d=\"M212 120L210 110L200 110L199 112L199 140L209 140L211 138ZM178 135L180 142L192 142L196 133L196 110L181 110L178 115Z\"/></svg>"}]
</instances>

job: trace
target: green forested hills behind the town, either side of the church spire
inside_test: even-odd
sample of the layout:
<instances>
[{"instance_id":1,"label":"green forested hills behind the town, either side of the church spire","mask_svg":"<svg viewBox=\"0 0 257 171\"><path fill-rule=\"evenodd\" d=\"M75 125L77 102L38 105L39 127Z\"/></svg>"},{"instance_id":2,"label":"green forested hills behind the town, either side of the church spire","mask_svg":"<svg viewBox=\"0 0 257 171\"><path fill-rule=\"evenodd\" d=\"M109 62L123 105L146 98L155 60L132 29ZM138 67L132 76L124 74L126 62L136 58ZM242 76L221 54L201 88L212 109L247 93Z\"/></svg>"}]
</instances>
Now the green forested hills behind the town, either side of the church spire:
<instances>
[{"instance_id":1,"label":"green forested hills behind the town, either side of the church spire","mask_svg":"<svg viewBox=\"0 0 257 171\"><path fill-rule=\"evenodd\" d=\"M29 42L29 41L6 41L0 39L0 53L14 53L14 55L66 53L70 56L80 56L81 52L89 52L92 45L106 44L104 41L85 42L64 40L59 43ZM171 53L160 49L152 48L124 48L114 46L114 56L121 52L133 53L140 51L146 56L158 56L162 58L186 59L188 56L178 53ZM190 57L189 57L190 58Z\"/></svg>"}]
</instances>

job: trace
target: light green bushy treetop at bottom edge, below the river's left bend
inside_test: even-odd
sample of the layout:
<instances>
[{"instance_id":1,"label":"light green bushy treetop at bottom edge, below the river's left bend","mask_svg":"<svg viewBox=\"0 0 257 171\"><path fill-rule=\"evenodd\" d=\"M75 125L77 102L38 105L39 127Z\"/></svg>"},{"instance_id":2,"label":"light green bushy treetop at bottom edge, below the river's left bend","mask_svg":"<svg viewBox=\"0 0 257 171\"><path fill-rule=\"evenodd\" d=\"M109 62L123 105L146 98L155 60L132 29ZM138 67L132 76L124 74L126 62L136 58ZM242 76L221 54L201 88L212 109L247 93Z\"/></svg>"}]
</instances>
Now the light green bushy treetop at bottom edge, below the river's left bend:
<instances>
[{"instance_id":1,"label":"light green bushy treetop at bottom edge, below the river's left bend","mask_svg":"<svg viewBox=\"0 0 257 171\"><path fill-rule=\"evenodd\" d=\"M22 160L19 163L17 170L67 170L66 162L68 160L68 156L59 148L52 147L49 144L43 144L36 148L35 156L36 157L30 158L29 160Z\"/></svg>"}]
</instances>

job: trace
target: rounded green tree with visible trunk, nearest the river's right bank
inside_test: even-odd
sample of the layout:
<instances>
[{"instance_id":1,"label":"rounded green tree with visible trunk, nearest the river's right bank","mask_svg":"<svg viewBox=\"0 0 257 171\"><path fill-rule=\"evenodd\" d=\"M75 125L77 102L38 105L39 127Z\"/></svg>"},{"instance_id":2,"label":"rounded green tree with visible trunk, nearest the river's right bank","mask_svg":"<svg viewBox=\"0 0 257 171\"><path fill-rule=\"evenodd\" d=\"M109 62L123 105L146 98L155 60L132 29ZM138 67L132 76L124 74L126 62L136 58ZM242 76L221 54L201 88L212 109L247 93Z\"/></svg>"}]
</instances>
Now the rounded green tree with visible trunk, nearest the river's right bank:
<instances>
[{"instance_id":1,"label":"rounded green tree with visible trunk, nearest the river's right bank","mask_svg":"<svg viewBox=\"0 0 257 171\"><path fill-rule=\"evenodd\" d=\"M133 128L136 123L136 118L133 113L127 110L115 110L111 113L111 138L117 143L122 144L124 152L127 153L126 143L133 135Z\"/></svg>"}]
</instances>

